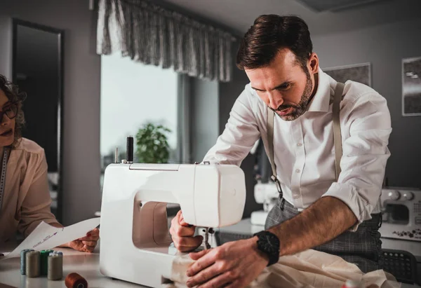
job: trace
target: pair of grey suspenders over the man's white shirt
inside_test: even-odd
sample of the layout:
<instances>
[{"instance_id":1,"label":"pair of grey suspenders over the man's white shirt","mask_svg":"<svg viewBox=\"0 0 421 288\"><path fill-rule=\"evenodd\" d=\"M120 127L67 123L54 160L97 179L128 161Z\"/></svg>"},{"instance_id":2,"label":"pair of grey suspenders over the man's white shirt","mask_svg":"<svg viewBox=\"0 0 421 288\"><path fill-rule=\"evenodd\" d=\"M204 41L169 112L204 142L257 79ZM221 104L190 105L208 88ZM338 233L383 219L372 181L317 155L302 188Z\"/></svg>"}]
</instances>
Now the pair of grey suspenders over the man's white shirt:
<instances>
[{"instance_id":1,"label":"pair of grey suspenders over the man's white shirt","mask_svg":"<svg viewBox=\"0 0 421 288\"><path fill-rule=\"evenodd\" d=\"M342 158L342 139L340 136L340 122L339 122L339 112L340 112L340 102L342 100L342 95L344 93L344 83L338 82L335 88L335 95L333 96L333 143L335 145L335 176L336 181L339 179L340 174L340 158ZM276 188L282 197L281 184L279 183L278 178L276 177L276 165L274 161L274 116L275 112L267 107L267 149L269 152L268 158L270 165L272 166L272 176L270 177L272 181L276 183Z\"/></svg>"}]
</instances>

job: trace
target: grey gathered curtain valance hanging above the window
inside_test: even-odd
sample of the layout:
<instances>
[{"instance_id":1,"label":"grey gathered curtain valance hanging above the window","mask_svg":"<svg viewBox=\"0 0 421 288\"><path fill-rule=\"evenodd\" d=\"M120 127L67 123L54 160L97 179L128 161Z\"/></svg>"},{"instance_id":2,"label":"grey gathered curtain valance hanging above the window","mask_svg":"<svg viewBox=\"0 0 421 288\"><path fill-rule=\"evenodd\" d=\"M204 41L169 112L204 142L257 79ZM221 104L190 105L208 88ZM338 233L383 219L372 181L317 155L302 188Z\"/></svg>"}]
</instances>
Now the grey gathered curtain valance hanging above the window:
<instances>
[{"instance_id":1,"label":"grey gathered curtain valance hanging above the window","mask_svg":"<svg viewBox=\"0 0 421 288\"><path fill-rule=\"evenodd\" d=\"M97 53L228 82L234 36L144 0L100 0Z\"/></svg>"}]
</instances>

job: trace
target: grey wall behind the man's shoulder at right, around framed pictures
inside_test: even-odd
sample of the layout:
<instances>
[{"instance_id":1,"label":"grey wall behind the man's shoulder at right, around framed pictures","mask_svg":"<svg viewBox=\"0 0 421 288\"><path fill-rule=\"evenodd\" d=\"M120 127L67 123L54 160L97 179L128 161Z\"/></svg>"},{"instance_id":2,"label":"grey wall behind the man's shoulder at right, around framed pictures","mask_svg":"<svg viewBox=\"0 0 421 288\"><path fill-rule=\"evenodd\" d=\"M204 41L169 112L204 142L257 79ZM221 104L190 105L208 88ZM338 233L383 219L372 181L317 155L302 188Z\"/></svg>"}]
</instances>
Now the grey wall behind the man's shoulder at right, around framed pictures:
<instances>
[{"instance_id":1,"label":"grey wall behind the man's shoulder at right, around framed pictures","mask_svg":"<svg viewBox=\"0 0 421 288\"><path fill-rule=\"evenodd\" d=\"M421 116L401 116L401 60L421 56L420 32L421 18L313 37L322 69L371 62L372 86L387 99L392 117L392 156L386 169L389 186L421 188Z\"/></svg>"}]
</instances>

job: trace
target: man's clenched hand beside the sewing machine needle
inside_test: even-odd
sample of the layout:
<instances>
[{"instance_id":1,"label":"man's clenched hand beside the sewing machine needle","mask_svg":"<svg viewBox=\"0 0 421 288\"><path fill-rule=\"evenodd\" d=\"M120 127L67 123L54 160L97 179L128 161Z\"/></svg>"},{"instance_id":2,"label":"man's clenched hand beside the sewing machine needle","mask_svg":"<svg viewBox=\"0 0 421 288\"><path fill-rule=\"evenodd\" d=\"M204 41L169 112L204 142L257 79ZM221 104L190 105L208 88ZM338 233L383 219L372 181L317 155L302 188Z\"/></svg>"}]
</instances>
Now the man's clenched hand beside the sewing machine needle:
<instances>
[{"instance_id":1,"label":"man's clenched hand beside the sewing machine needle","mask_svg":"<svg viewBox=\"0 0 421 288\"><path fill-rule=\"evenodd\" d=\"M187 224L182 217L181 210L171 220L170 234L175 247L180 252L189 252L201 245L203 237L198 235L193 237L195 227Z\"/></svg>"}]
</instances>

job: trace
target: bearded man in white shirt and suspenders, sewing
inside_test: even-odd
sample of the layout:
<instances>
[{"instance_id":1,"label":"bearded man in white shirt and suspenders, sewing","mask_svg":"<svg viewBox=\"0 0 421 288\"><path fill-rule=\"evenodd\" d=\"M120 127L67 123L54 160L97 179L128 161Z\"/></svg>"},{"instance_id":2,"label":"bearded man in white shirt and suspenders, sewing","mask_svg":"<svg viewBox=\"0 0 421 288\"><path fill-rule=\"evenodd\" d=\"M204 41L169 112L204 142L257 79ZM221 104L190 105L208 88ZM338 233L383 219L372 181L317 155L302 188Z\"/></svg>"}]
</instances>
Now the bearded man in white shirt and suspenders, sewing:
<instances>
[{"instance_id":1,"label":"bearded man in white shirt and suspenders, sewing","mask_svg":"<svg viewBox=\"0 0 421 288\"><path fill-rule=\"evenodd\" d=\"M187 270L187 286L244 287L279 256L305 249L342 256L363 272L382 268L378 203L392 132L386 100L352 81L337 93L343 95L337 180L332 99L341 86L319 68L305 22L295 16L260 16L241 42L237 66L250 83L205 160L240 165L259 137L270 151L272 109L274 179L282 193L265 232L190 254L196 262ZM201 244L181 212L171 226L180 251Z\"/></svg>"}]
</instances>

